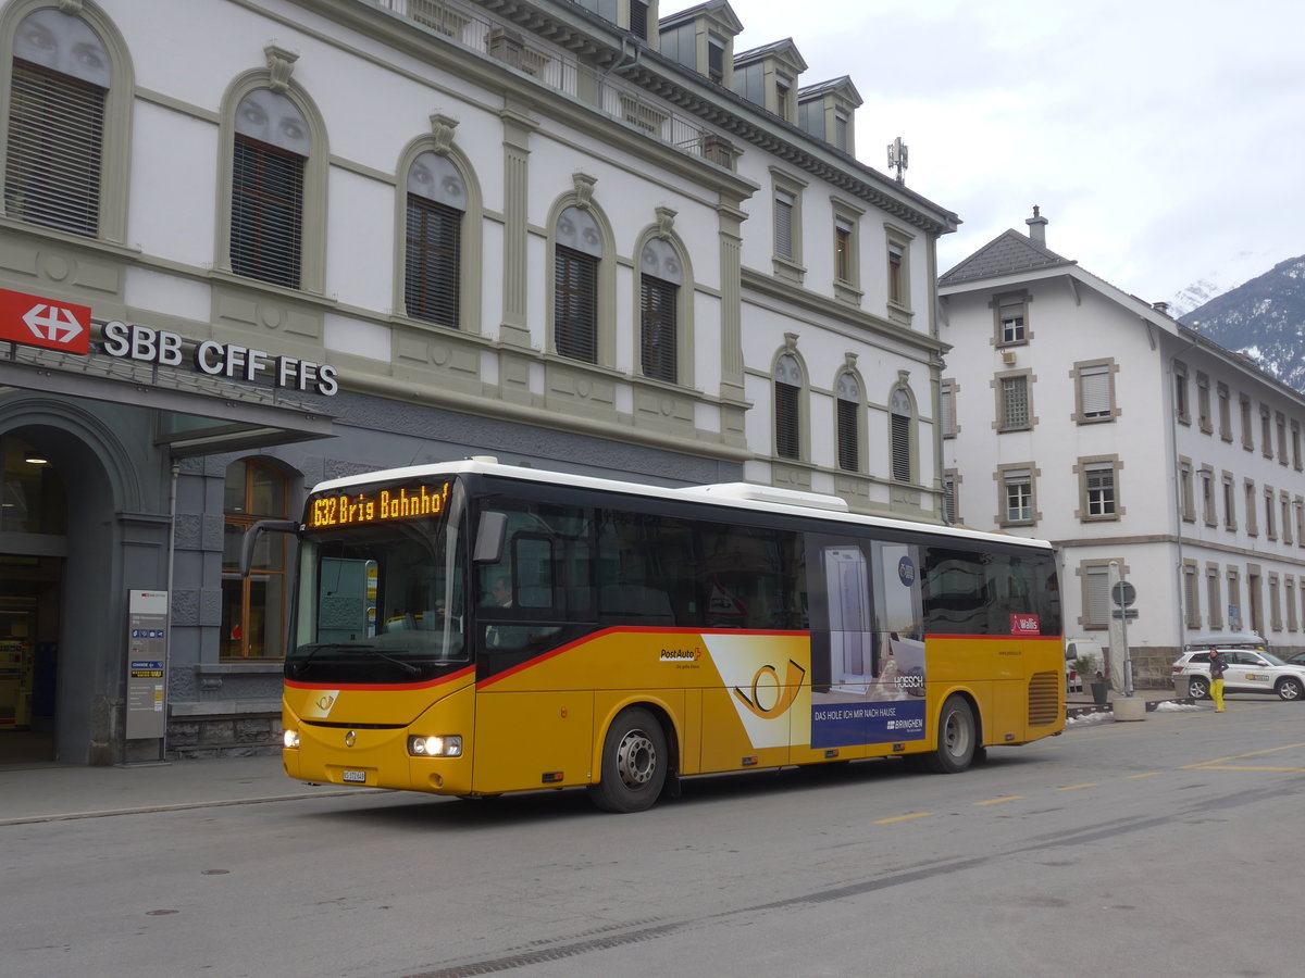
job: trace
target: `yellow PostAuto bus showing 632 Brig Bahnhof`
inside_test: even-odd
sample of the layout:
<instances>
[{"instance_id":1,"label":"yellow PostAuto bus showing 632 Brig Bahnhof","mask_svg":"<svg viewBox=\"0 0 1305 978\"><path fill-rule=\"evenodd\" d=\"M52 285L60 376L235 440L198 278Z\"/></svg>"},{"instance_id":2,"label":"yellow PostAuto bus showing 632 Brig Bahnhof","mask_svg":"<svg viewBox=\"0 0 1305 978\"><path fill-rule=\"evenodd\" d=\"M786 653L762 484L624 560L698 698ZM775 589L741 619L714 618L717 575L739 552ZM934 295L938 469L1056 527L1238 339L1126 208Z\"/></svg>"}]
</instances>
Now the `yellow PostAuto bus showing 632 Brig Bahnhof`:
<instances>
[{"instance_id":1,"label":"yellow PostAuto bus showing 632 Brig Bahnhof","mask_svg":"<svg viewBox=\"0 0 1305 978\"><path fill-rule=\"evenodd\" d=\"M904 759L964 771L1060 733L1041 541L748 484L493 460L322 482L284 664L286 773L632 812L692 775ZM248 563L247 563L248 566Z\"/></svg>"}]
</instances>

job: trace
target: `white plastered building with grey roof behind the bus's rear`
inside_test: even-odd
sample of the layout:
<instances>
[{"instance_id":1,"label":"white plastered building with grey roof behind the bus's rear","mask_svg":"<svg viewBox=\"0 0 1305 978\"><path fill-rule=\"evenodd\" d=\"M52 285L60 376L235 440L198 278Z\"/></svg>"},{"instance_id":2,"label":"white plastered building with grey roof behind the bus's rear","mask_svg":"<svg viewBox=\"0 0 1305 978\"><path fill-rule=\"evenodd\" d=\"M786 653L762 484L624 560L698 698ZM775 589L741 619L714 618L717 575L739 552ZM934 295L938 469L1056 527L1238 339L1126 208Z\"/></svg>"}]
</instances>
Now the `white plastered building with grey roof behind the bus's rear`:
<instances>
[{"instance_id":1,"label":"white plastered building with grey roof behind the bus's rear","mask_svg":"<svg viewBox=\"0 0 1305 978\"><path fill-rule=\"evenodd\" d=\"M1138 685L1216 632L1300 651L1305 396L1026 224L940 279L953 519L1060 548L1069 639L1109 645L1114 563Z\"/></svg>"}]
</instances>

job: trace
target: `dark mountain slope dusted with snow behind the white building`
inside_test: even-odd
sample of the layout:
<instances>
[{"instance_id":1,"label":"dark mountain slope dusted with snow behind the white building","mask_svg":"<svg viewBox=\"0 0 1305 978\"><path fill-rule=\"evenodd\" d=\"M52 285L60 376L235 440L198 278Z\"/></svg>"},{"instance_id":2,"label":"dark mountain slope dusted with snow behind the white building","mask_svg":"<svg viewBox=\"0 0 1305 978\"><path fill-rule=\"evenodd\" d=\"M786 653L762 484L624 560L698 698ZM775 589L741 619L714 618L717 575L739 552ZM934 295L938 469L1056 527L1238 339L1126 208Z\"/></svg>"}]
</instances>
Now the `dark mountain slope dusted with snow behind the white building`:
<instances>
[{"instance_id":1,"label":"dark mountain slope dusted with snow behind the white building","mask_svg":"<svg viewBox=\"0 0 1305 978\"><path fill-rule=\"evenodd\" d=\"M1270 377L1305 391L1305 256L1279 262L1180 318L1219 346L1251 357Z\"/></svg>"}]
</instances>

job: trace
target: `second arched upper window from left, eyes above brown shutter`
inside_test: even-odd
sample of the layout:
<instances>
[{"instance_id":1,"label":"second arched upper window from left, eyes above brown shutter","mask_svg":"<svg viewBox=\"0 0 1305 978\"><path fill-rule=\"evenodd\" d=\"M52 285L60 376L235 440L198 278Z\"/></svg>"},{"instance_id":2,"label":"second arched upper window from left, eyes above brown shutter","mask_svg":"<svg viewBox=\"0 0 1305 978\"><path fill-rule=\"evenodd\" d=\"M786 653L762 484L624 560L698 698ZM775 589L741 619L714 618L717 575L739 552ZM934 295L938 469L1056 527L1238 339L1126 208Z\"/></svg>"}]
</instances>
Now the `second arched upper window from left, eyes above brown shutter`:
<instances>
[{"instance_id":1,"label":"second arched upper window from left, eyes above brown shutter","mask_svg":"<svg viewBox=\"0 0 1305 978\"><path fill-rule=\"evenodd\" d=\"M254 89L236 106L231 270L299 288L309 136L288 96Z\"/></svg>"}]
</instances>

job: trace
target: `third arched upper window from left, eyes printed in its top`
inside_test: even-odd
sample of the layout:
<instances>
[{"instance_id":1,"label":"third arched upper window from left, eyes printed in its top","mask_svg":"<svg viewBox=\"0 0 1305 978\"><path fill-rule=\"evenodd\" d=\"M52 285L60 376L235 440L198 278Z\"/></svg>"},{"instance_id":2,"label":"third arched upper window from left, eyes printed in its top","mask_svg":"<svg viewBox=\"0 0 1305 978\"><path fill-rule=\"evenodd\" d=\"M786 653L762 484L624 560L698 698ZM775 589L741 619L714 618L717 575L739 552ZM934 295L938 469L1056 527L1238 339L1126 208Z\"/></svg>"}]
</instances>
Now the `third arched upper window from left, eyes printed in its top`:
<instances>
[{"instance_id":1,"label":"third arched upper window from left, eyes printed in its top","mask_svg":"<svg viewBox=\"0 0 1305 978\"><path fill-rule=\"evenodd\" d=\"M462 219L467 188L453 160L423 153L407 179L405 301L415 319L461 322Z\"/></svg>"}]
</instances>

